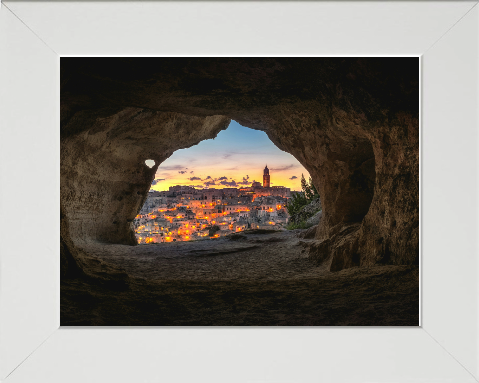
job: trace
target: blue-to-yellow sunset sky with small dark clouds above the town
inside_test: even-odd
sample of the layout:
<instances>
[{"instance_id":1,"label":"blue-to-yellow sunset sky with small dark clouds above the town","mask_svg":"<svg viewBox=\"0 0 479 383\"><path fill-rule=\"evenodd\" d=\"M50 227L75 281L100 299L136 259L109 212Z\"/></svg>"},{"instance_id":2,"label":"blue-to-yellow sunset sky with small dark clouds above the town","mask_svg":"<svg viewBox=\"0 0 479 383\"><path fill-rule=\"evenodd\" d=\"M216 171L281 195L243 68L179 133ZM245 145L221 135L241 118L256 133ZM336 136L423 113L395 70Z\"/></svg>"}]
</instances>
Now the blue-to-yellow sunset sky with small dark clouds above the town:
<instances>
[{"instance_id":1,"label":"blue-to-yellow sunset sky with small dark clouds above the town","mask_svg":"<svg viewBox=\"0 0 479 383\"><path fill-rule=\"evenodd\" d=\"M271 186L299 191L301 173L306 180L309 178L308 171L291 154L276 147L266 133L232 121L215 139L173 153L158 167L151 189L168 190L175 185L240 188L254 181L262 184L266 163Z\"/></svg>"}]
</instances>

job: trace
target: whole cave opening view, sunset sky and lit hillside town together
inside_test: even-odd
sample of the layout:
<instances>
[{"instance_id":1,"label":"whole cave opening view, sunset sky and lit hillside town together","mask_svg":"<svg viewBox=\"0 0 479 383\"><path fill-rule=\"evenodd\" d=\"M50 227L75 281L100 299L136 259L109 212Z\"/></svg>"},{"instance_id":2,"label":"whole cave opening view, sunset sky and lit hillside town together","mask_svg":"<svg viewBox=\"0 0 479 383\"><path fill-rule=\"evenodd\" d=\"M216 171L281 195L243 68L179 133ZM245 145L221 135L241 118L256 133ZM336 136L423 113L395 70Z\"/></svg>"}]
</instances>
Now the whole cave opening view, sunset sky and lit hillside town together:
<instances>
[{"instance_id":1,"label":"whole cave opening view, sunset sky and lit hillside town together","mask_svg":"<svg viewBox=\"0 0 479 383\"><path fill-rule=\"evenodd\" d=\"M290 226L288 201L303 192L303 178L309 179L308 171L265 132L232 120L216 137L179 149L158 166L132 222L135 236L151 244L284 230ZM200 230L205 226L218 230Z\"/></svg>"}]
</instances>

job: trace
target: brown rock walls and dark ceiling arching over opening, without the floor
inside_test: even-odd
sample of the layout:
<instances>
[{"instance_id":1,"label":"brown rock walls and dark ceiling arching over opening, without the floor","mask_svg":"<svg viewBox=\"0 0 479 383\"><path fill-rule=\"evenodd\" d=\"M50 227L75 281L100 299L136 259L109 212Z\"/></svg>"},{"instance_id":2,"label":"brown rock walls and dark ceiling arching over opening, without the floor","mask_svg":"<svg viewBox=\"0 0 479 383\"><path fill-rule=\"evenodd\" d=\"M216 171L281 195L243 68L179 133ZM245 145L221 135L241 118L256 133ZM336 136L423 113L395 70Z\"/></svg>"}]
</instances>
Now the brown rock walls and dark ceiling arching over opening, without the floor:
<instances>
[{"instance_id":1,"label":"brown rock walls and dark ceiling arching over opening, without the floor","mask_svg":"<svg viewBox=\"0 0 479 383\"><path fill-rule=\"evenodd\" d=\"M134 244L130 223L158 165L234 119L310 172L323 205L311 259L332 271L418 263L418 58L61 58L60 66L62 238Z\"/></svg>"}]
</instances>

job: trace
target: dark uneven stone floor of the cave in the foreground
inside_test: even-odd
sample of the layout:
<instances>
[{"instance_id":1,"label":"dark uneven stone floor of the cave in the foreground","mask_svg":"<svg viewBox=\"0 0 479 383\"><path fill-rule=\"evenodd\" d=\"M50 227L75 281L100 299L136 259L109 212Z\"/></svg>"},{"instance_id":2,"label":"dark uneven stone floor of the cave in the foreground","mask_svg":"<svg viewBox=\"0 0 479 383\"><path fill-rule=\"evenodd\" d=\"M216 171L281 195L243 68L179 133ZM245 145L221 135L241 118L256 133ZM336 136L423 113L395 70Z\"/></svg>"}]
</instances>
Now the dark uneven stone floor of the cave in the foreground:
<instances>
[{"instance_id":1,"label":"dark uneven stone floor of the cave in the foreground","mask_svg":"<svg viewBox=\"0 0 479 383\"><path fill-rule=\"evenodd\" d=\"M62 280L62 326L418 326L419 267L329 272L298 230L82 248L125 269L127 285ZM301 239L301 241L308 241Z\"/></svg>"}]
</instances>

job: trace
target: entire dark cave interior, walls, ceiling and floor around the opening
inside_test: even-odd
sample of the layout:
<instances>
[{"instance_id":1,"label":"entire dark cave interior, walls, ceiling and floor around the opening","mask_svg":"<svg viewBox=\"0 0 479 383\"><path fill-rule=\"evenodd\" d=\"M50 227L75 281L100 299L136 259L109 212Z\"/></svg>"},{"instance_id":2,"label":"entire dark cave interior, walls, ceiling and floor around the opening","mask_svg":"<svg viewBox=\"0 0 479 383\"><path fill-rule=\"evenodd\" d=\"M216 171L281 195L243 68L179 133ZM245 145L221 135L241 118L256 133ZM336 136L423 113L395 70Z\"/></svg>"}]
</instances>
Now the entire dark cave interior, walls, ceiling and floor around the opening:
<instances>
[{"instance_id":1,"label":"entire dark cave interior, walls, ceiling and floor around the opening","mask_svg":"<svg viewBox=\"0 0 479 383\"><path fill-rule=\"evenodd\" d=\"M235 273L202 280L194 268L186 288L180 275L173 281L156 272L177 272L164 260L150 269L130 260L146 251L135 246L132 221L158 166L231 120L264 131L308 170L323 215L308 230L236 235L204 251L232 259L223 254L232 242L241 256L251 257L254 246L271 260L284 251L276 271L304 273L286 278L287 288L274 270L274 278L253 283ZM155 247L155 256L166 254ZM195 259L201 269L215 256ZM418 58L62 57L60 274L62 325L417 325ZM217 298L201 293L215 283ZM325 311L327 291L342 294L330 305L342 301L345 312L320 318L314 313ZM122 303L105 308L112 297ZM306 304L318 297L321 307ZM303 309L271 314L288 299L302 299ZM346 309L352 299L357 305ZM371 302L379 316L368 311Z\"/></svg>"}]
</instances>

